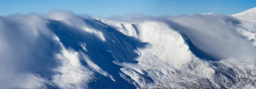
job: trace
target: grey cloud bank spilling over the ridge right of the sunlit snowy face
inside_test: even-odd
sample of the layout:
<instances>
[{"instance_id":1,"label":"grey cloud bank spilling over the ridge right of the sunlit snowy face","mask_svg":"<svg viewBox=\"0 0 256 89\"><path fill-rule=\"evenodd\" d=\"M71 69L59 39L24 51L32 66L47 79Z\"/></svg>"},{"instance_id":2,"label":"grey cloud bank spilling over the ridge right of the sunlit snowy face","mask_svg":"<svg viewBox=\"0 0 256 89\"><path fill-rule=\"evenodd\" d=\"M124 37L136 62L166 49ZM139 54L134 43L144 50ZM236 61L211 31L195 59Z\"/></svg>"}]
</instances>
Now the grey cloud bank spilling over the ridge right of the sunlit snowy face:
<instances>
[{"instance_id":1,"label":"grey cloud bank spilling over the ridge right of the sunlit snowy face","mask_svg":"<svg viewBox=\"0 0 256 89\"><path fill-rule=\"evenodd\" d=\"M180 15L180 16L145 16L128 14L123 17L108 17L106 19L122 22L143 23L159 21L168 24L181 34L185 34L192 43L216 60L237 59L255 60L255 46L237 31L243 29L239 20L222 14L213 15Z\"/></svg>"}]
</instances>

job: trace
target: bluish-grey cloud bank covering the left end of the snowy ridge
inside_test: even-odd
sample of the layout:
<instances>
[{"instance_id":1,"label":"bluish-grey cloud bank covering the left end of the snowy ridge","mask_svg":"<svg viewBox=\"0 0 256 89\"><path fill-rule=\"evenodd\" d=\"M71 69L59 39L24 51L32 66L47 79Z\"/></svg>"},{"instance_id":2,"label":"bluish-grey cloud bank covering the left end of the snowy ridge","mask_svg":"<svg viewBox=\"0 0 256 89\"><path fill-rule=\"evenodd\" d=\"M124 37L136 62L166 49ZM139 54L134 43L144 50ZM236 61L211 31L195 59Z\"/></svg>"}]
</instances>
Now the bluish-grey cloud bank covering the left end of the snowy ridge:
<instances>
[{"instance_id":1,"label":"bluish-grey cloud bank covering the left end of the snowy ridge","mask_svg":"<svg viewBox=\"0 0 256 89\"><path fill-rule=\"evenodd\" d=\"M61 70L56 71L54 69L67 65L63 65L65 58L55 56L60 54L64 57L66 55L72 57L72 53L75 53L71 49L65 51L59 39L48 28L47 24L51 20L67 20L63 24L81 28L84 24L81 19L83 17L85 15L76 15L71 11L64 10L54 10L47 15L31 13L0 17L1 88L42 86L43 79L38 80L35 77L36 74L47 78L53 78L57 74L60 75L58 71ZM69 53L69 50L71 50L71 53ZM79 62L75 59L72 61ZM79 68L72 70L80 71ZM79 72L76 74L78 75ZM69 74L63 74L62 72L61 75ZM72 74L69 76L72 76ZM76 78L79 78L79 76L76 76ZM76 78L73 79L76 80Z\"/></svg>"}]
</instances>

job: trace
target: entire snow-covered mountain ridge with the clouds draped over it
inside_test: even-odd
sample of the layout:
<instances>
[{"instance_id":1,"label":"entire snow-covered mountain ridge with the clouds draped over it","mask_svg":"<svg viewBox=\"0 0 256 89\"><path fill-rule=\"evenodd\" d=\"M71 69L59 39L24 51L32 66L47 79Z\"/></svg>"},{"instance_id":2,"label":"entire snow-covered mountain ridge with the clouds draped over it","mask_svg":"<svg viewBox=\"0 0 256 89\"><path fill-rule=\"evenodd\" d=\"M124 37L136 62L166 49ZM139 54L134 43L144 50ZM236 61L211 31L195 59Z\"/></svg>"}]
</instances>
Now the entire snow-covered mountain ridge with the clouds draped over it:
<instances>
[{"instance_id":1,"label":"entire snow-covered mountain ridge with the clouds draped over it","mask_svg":"<svg viewBox=\"0 0 256 89\"><path fill-rule=\"evenodd\" d=\"M0 17L0 87L253 89L254 12L123 22L69 11Z\"/></svg>"}]
</instances>

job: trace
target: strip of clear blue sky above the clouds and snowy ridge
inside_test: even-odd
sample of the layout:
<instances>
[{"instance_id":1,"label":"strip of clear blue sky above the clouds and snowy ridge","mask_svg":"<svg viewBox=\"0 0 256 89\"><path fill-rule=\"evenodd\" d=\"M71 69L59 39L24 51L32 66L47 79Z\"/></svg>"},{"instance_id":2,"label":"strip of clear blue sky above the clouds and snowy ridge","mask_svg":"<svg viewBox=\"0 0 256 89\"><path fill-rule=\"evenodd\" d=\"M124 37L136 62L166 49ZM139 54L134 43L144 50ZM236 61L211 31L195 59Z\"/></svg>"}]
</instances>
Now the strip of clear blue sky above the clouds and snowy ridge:
<instances>
[{"instance_id":1,"label":"strip of clear blue sky above the clouds and snowy ridge","mask_svg":"<svg viewBox=\"0 0 256 89\"><path fill-rule=\"evenodd\" d=\"M65 9L93 17L131 13L176 16L215 12L231 15L254 7L256 0L0 0L0 15L46 14L50 9Z\"/></svg>"}]
</instances>

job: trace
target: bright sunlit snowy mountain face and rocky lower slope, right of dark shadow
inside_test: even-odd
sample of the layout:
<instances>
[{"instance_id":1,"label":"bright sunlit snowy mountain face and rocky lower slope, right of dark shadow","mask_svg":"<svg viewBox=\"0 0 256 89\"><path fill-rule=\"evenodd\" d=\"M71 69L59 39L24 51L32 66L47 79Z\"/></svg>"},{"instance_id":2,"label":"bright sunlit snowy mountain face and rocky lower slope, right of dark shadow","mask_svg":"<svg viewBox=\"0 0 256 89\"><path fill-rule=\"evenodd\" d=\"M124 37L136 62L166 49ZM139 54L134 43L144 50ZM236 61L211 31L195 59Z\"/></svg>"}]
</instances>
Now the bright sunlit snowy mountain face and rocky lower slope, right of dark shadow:
<instances>
[{"instance_id":1,"label":"bright sunlit snowy mountain face and rocky lower slope, right of dark shadow","mask_svg":"<svg viewBox=\"0 0 256 89\"><path fill-rule=\"evenodd\" d=\"M102 22L111 25L106 21L108 20ZM128 25L128 23L119 23L119 25L122 24ZM163 22L136 23L134 25L140 32L137 37L151 43L151 47L140 50L143 55L138 58L140 59L139 63L125 63L125 65L129 66L129 70L135 69L152 78L156 82L155 87L196 89L241 88L254 85L254 82L250 82L255 80L253 77L255 75L254 63L240 65L238 60L212 61L214 58L196 48L186 35L180 34ZM181 29L178 26L175 28ZM134 68L134 66L136 67ZM248 69L253 69L253 72L247 71ZM245 80L240 80L245 76ZM244 82L249 83L244 84Z\"/></svg>"}]
</instances>

